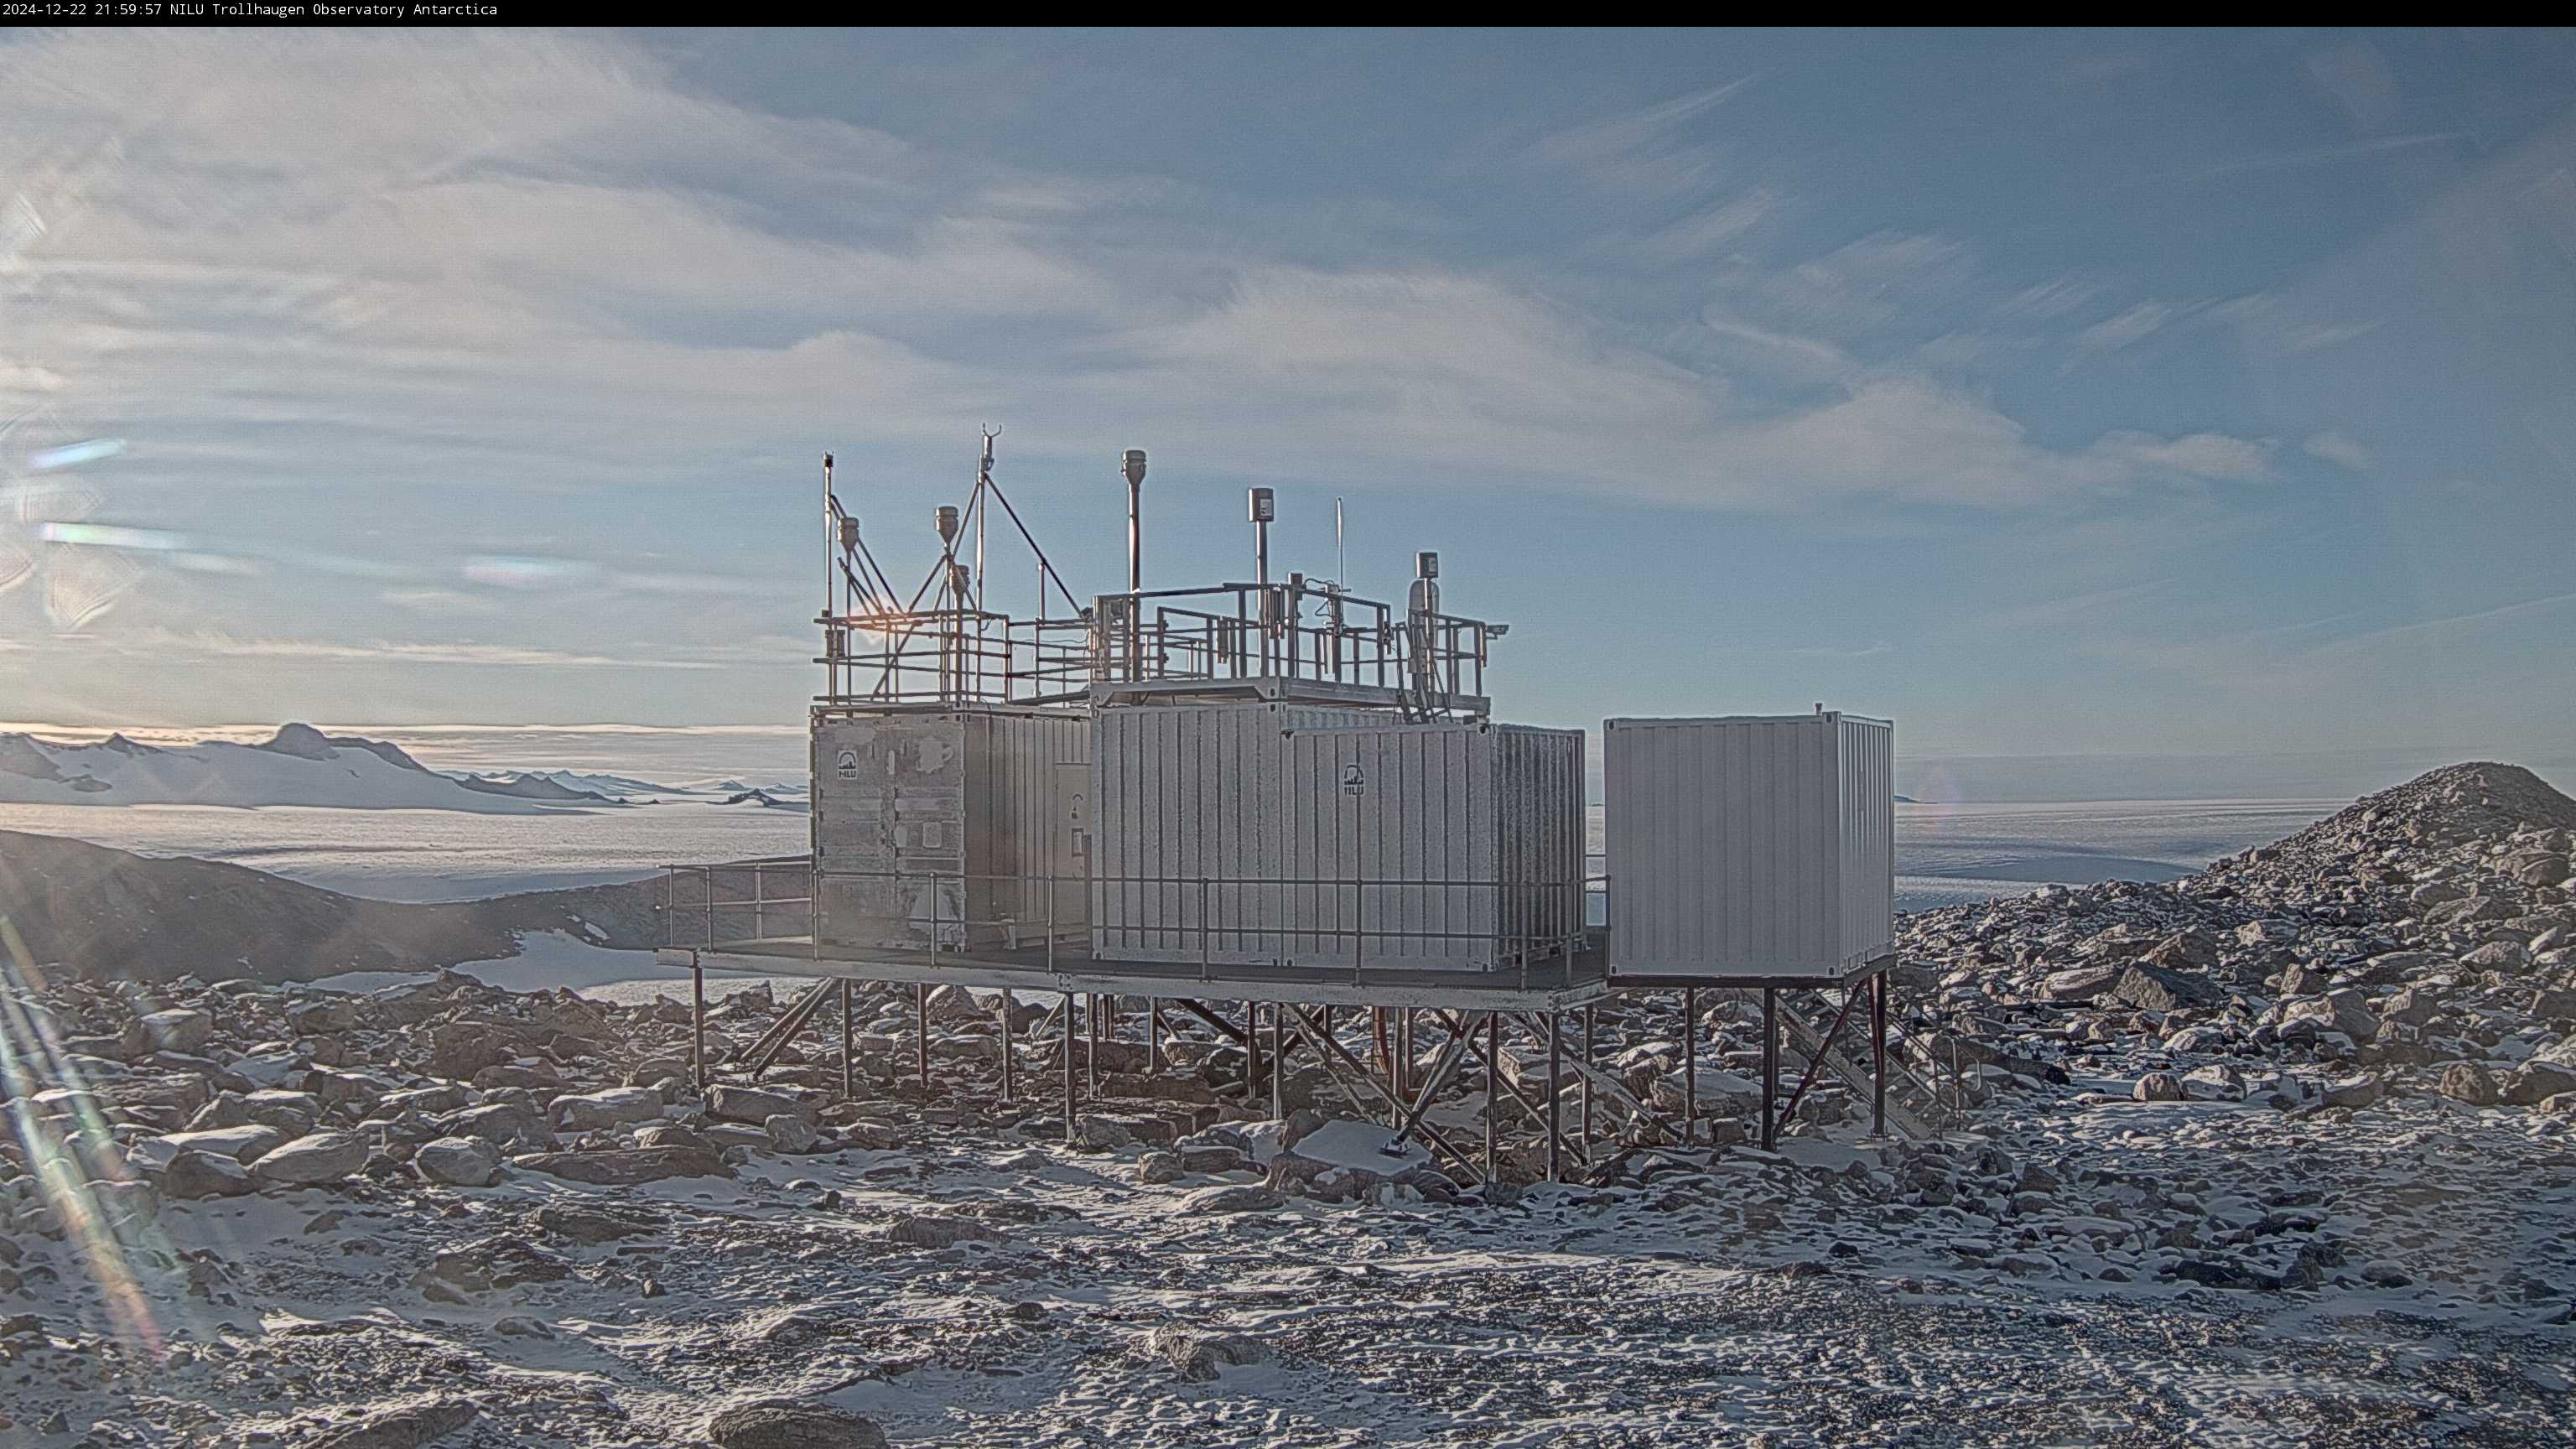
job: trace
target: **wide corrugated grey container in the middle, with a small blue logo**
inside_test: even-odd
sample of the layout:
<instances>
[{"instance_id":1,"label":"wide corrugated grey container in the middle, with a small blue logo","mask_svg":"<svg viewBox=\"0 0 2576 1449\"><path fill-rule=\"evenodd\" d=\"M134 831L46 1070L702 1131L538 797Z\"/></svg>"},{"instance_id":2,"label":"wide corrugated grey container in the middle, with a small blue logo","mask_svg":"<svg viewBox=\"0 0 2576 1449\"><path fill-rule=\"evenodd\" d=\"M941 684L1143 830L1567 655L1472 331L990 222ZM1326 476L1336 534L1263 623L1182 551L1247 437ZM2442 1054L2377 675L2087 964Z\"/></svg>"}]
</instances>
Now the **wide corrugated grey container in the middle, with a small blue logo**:
<instances>
[{"instance_id":1,"label":"wide corrugated grey container in the middle, with a small blue logo","mask_svg":"<svg viewBox=\"0 0 2576 1449\"><path fill-rule=\"evenodd\" d=\"M1100 724L1103 957L1499 969L1582 933L1582 732L1278 704Z\"/></svg>"}]
</instances>

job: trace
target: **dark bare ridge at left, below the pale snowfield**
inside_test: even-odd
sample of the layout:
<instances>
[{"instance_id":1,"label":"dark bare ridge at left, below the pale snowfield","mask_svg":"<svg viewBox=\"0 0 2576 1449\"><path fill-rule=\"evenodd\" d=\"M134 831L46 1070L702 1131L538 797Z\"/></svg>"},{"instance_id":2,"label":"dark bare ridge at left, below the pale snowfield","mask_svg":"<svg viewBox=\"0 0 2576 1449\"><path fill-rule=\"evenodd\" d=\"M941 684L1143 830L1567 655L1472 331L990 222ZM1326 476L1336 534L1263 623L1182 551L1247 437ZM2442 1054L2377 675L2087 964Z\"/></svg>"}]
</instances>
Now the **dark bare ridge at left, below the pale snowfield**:
<instances>
[{"instance_id":1,"label":"dark bare ridge at left, below the pale snowfield","mask_svg":"<svg viewBox=\"0 0 2576 1449\"><path fill-rule=\"evenodd\" d=\"M662 882L399 905L219 861L0 830L0 918L36 967L88 980L314 980L518 954L531 931L662 944Z\"/></svg>"}]
</instances>

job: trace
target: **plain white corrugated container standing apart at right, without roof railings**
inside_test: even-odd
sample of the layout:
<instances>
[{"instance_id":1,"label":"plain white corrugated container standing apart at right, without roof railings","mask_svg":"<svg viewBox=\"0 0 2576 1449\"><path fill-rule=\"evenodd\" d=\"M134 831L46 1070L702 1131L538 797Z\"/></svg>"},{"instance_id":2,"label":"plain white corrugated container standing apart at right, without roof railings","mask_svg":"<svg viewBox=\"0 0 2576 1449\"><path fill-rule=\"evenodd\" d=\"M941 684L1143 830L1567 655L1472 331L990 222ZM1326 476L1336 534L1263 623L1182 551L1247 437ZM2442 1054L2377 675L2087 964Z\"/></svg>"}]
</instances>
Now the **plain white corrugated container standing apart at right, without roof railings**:
<instances>
[{"instance_id":1,"label":"plain white corrugated container standing apart at right, without roof railings","mask_svg":"<svg viewBox=\"0 0 2576 1449\"><path fill-rule=\"evenodd\" d=\"M1893 951L1896 727L1602 722L1610 969L1842 977Z\"/></svg>"}]
</instances>

